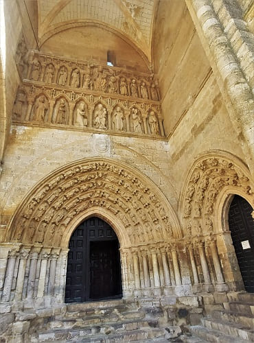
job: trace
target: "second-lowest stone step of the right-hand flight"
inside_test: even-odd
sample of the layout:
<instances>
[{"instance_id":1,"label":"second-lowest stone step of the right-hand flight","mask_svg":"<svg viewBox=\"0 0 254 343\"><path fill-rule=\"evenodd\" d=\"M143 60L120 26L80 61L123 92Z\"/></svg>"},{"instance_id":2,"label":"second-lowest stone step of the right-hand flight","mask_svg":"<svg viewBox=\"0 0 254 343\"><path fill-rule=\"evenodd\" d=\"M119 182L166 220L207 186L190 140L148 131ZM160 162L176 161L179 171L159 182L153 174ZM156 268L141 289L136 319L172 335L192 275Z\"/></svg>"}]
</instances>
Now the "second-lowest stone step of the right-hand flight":
<instances>
[{"instance_id":1,"label":"second-lowest stone step of the right-hand flight","mask_svg":"<svg viewBox=\"0 0 254 343\"><path fill-rule=\"evenodd\" d=\"M232 324L231 322L221 322L220 320L202 318L201 322L207 329L218 330L225 335L238 338L240 340L249 340L254 342L254 331L242 327L240 324Z\"/></svg>"}]
</instances>

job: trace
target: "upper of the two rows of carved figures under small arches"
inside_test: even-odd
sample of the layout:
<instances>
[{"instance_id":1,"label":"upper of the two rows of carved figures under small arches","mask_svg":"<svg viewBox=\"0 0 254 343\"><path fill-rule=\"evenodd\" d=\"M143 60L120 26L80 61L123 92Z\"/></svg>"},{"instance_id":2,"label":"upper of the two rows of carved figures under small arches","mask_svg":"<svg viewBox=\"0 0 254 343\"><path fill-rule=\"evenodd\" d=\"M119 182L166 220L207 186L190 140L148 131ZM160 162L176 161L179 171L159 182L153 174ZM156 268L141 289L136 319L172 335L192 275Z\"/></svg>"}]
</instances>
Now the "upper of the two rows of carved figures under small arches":
<instances>
[{"instance_id":1,"label":"upper of the two rows of carved figures under small arches","mask_svg":"<svg viewBox=\"0 0 254 343\"><path fill-rule=\"evenodd\" d=\"M27 79L45 82L45 84L159 101L157 80L151 75L138 73L133 75L121 69L95 66L88 62L78 64L78 67L77 63L72 64L65 60L52 60L37 53L32 59L30 58Z\"/></svg>"}]
</instances>

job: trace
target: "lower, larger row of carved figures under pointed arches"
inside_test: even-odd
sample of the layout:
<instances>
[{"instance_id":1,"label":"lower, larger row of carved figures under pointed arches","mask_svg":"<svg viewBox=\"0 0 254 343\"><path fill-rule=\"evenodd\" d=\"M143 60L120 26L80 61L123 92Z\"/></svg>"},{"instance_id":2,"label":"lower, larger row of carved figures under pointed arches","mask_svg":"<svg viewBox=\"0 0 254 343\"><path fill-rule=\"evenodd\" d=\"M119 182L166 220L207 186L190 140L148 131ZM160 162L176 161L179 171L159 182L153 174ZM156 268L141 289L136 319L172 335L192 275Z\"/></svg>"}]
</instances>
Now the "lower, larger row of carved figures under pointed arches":
<instances>
[{"instance_id":1,"label":"lower, larger row of carved figures under pointed arches","mask_svg":"<svg viewBox=\"0 0 254 343\"><path fill-rule=\"evenodd\" d=\"M29 90L27 94L27 89ZM43 91L45 93L43 93ZM33 96L30 96L32 92ZM34 94L35 93L35 94ZM38 95L36 95L38 93ZM49 94L57 95L50 98ZM71 97L71 99L70 99ZM73 97L76 100L73 101ZM19 122L52 123L78 128L113 130L163 136L160 107L138 102L119 102L117 99L93 98L84 93L73 96L56 89L38 86L23 88L16 96L13 119Z\"/></svg>"}]
</instances>

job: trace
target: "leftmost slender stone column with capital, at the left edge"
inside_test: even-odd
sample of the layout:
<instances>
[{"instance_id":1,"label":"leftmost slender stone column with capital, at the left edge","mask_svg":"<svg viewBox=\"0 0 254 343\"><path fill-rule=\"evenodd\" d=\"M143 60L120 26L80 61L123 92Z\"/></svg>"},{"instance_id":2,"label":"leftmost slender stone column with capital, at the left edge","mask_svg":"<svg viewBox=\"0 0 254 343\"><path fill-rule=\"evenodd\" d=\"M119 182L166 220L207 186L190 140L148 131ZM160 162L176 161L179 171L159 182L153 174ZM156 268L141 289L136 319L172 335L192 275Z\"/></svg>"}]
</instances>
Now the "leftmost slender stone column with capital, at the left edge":
<instances>
[{"instance_id":1,"label":"leftmost slender stone column with capital, at the left edge","mask_svg":"<svg viewBox=\"0 0 254 343\"><path fill-rule=\"evenodd\" d=\"M19 252L19 246L13 246L8 252L8 263L5 273L5 281L3 285L2 301L10 300L10 292L12 290L12 280L16 263L16 256Z\"/></svg>"}]
</instances>

